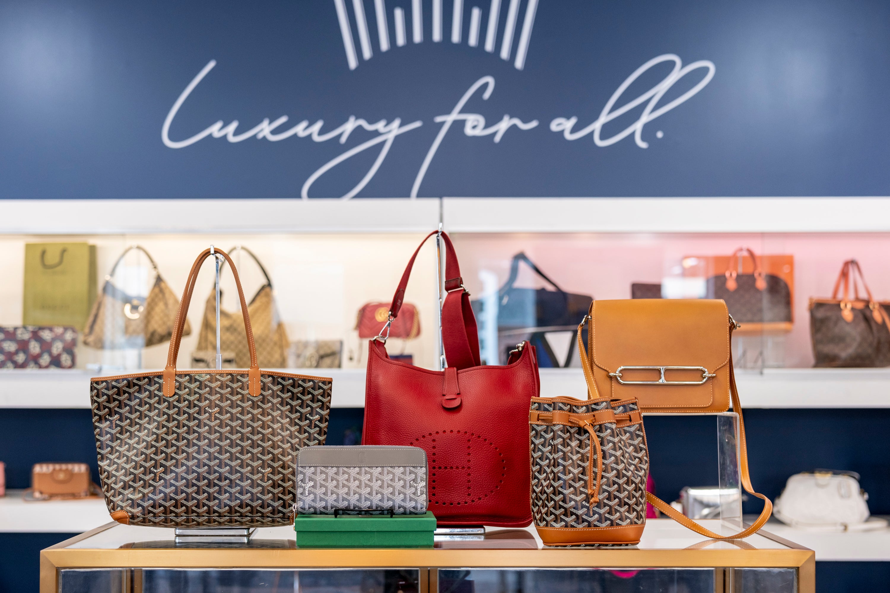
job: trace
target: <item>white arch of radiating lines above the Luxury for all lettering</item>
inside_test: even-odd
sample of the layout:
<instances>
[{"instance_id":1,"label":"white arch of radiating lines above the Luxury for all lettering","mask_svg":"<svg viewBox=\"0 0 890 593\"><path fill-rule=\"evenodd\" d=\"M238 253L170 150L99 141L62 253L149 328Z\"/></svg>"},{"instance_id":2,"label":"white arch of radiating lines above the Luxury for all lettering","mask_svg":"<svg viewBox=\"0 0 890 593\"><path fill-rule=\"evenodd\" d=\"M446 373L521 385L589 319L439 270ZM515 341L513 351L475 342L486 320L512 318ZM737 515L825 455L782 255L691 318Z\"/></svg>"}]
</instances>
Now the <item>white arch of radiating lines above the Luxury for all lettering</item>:
<instances>
[{"instance_id":1,"label":"white arch of radiating lines above the Luxury for all lettering","mask_svg":"<svg viewBox=\"0 0 890 593\"><path fill-rule=\"evenodd\" d=\"M442 40L442 2L431 0L431 12L433 15L433 43ZM507 0L505 0L506 4ZM506 7L506 24L501 35L500 57L501 60L510 60L514 46L516 25L519 20L521 0L509 0ZM494 53L498 43L498 20L501 13L501 0L490 0L489 15L485 27L485 41L483 47L486 52ZM347 10L346 0L334 0L336 18L340 23L340 34L343 36L343 47L346 51L346 62L349 69L359 67L359 56L356 52L355 40L352 37L352 23ZM531 41L531 28L535 24L535 12L538 11L538 0L526 0L525 16L522 19L522 29L519 33L519 41L516 43L513 65L517 70L525 68L525 58L529 52ZM464 30L464 0L454 0L451 11L451 43L460 44ZM390 29L387 22L386 0L374 0L374 17L377 29L377 45L380 52L388 52L391 48ZM365 15L363 0L352 0L352 19L359 33L359 48L361 57L368 61L374 57L374 49L371 47L370 28L368 18ZM424 42L424 9L423 0L411 0L411 41L415 44ZM466 36L466 44L470 47L478 47L481 36L482 10L479 6L470 9L470 30ZM407 21L405 10L401 6L392 9L392 22L395 29L395 44L401 47L408 43Z\"/></svg>"}]
</instances>

